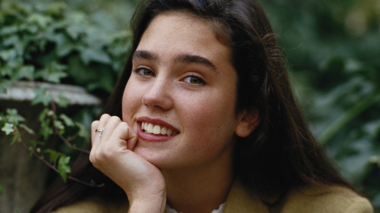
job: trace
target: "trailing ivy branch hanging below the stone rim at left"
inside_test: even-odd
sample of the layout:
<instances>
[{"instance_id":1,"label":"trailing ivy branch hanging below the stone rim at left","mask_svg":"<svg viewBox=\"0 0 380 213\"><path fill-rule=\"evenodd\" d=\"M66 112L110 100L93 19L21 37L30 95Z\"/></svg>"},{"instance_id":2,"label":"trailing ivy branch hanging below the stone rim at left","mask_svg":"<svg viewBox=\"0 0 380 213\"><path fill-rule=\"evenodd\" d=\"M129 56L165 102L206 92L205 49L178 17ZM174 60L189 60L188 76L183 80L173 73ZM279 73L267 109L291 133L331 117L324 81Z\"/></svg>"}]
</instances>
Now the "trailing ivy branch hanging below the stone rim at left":
<instances>
[{"instance_id":1,"label":"trailing ivy branch hanging below the stone rim at left","mask_svg":"<svg viewBox=\"0 0 380 213\"><path fill-rule=\"evenodd\" d=\"M5 135L10 137L10 145L19 143L21 147L29 152L30 156L36 157L50 169L59 174L64 182L66 182L67 179L70 179L88 186L103 186L103 184L97 185L92 182L84 182L68 175L71 173L71 167L69 165L70 156L67 156L55 149L46 148L49 139L53 136L57 136L61 142L71 149L89 154L88 150L79 148L75 143L73 143L73 141L75 139L78 140L78 138L88 141L89 133L82 124L73 121L67 115L58 115L56 103L53 100L46 102L49 98L46 98L46 94L44 97L42 96L43 95L37 95L32 103L41 103L45 106L38 116L38 121L40 123L38 135L43 139L43 142L35 140L24 142L21 137L21 131L24 131L30 135L36 135L36 133L33 129L23 123L25 122L25 118L19 115L17 109L7 108L6 114L0 113L0 128ZM46 103L49 103L49 105ZM73 133L68 134L67 130L70 130L70 133ZM45 159L45 155L49 156L49 160Z\"/></svg>"}]
</instances>

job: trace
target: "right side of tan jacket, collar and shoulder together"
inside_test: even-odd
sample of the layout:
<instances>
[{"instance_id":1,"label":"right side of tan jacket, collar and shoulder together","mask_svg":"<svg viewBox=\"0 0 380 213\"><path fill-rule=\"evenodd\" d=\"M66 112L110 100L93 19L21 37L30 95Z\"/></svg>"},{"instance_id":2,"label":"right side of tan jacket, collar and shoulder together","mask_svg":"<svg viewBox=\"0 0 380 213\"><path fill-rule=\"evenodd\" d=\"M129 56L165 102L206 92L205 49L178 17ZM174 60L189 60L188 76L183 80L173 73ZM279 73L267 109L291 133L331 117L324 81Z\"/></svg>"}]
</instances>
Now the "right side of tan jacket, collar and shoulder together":
<instances>
[{"instance_id":1,"label":"right side of tan jacket, collar and shoulder together","mask_svg":"<svg viewBox=\"0 0 380 213\"><path fill-rule=\"evenodd\" d=\"M235 181L228 194L224 213L373 213L370 201L342 186L295 187L267 206L247 187Z\"/></svg>"}]
</instances>

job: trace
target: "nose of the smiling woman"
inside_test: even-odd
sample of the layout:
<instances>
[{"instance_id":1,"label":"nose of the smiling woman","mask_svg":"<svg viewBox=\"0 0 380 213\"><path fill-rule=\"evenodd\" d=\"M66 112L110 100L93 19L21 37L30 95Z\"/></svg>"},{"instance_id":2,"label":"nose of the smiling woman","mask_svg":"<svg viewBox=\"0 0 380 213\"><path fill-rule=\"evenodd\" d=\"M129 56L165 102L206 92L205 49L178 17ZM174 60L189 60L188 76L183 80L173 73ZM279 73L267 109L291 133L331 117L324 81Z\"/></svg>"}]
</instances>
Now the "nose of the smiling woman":
<instances>
[{"instance_id":1,"label":"nose of the smiling woman","mask_svg":"<svg viewBox=\"0 0 380 213\"><path fill-rule=\"evenodd\" d=\"M173 106L170 82L157 77L145 91L142 102L152 109L170 109Z\"/></svg>"}]
</instances>

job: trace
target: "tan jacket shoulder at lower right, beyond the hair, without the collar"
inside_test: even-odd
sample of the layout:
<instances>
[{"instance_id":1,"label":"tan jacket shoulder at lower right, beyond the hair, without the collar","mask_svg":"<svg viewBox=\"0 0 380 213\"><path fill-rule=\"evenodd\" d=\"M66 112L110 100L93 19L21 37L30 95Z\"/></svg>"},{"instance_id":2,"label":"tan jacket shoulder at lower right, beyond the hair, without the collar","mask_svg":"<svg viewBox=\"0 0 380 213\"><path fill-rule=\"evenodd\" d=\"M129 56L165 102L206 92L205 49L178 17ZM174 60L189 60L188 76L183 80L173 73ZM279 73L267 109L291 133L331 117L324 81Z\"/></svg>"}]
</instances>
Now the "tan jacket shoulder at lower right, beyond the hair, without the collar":
<instances>
[{"instance_id":1,"label":"tan jacket shoulder at lower right, beyond the hair, without the collar","mask_svg":"<svg viewBox=\"0 0 380 213\"><path fill-rule=\"evenodd\" d=\"M279 213L373 213L370 201L343 186L311 186L291 190L285 196Z\"/></svg>"}]
</instances>

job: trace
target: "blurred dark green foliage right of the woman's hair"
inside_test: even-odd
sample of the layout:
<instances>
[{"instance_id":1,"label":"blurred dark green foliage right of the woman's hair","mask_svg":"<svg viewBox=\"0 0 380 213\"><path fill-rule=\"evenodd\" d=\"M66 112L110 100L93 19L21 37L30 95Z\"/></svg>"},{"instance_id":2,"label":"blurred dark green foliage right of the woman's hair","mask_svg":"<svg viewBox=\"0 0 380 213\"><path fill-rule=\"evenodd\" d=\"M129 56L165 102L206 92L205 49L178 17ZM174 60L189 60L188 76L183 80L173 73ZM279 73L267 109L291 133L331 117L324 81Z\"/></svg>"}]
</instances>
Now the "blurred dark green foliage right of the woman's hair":
<instances>
[{"instance_id":1,"label":"blurred dark green foliage right of the woman's hair","mask_svg":"<svg viewBox=\"0 0 380 213\"><path fill-rule=\"evenodd\" d=\"M259 1L312 131L380 212L380 2Z\"/></svg>"}]
</instances>

